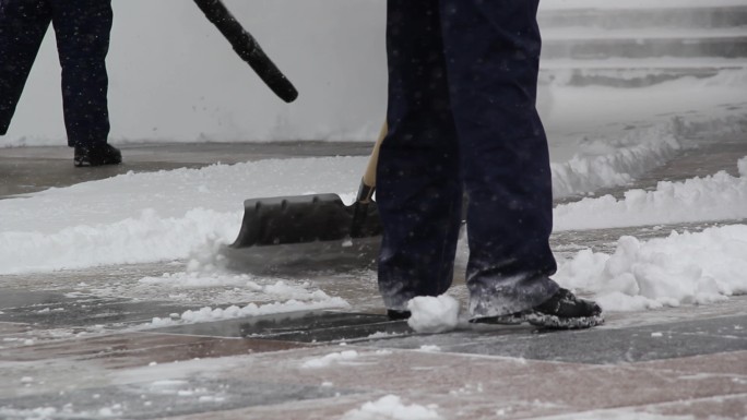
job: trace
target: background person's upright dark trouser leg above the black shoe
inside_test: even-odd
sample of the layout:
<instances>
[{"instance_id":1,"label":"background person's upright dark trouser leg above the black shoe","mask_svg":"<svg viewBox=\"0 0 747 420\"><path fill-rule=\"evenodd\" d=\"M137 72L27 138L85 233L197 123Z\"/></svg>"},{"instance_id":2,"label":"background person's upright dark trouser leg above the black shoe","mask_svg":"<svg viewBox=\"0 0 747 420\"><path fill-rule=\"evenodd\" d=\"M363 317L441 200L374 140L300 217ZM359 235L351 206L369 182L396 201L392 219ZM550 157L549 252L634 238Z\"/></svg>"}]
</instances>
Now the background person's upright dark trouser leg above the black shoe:
<instances>
[{"instance_id":1,"label":"background person's upright dark trouser leg above the black shoe","mask_svg":"<svg viewBox=\"0 0 747 420\"><path fill-rule=\"evenodd\" d=\"M48 0L62 67L62 106L68 145L90 147L109 135L106 55L111 0Z\"/></svg>"}]
</instances>

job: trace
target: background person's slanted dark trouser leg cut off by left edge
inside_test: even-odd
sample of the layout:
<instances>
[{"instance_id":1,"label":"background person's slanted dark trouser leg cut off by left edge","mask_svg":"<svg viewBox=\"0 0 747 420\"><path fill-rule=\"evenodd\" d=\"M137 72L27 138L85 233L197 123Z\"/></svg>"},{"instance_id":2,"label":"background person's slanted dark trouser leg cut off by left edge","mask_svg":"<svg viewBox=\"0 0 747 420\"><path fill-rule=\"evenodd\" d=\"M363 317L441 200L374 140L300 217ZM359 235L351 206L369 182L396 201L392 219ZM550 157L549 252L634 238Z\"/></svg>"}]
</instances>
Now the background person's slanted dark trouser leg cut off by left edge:
<instances>
[{"instance_id":1,"label":"background person's slanted dark trouser leg cut off by left edge","mask_svg":"<svg viewBox=\"0 0 747 420\"><path fill-rule=\"evenodd\" d=\"M8 132L50 20L44 0L0 0L0 135Z\"/></svg>"}]
</instances>

